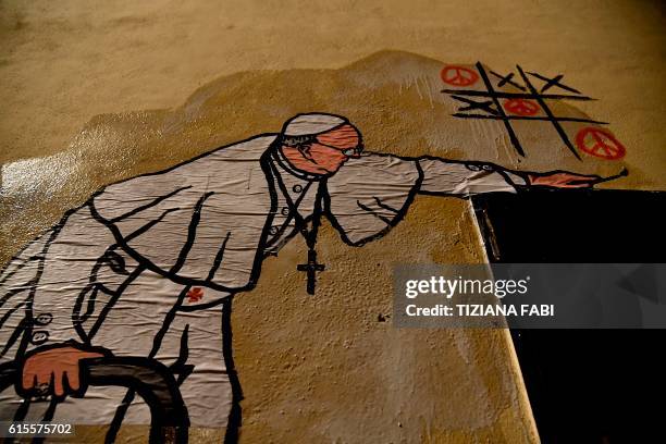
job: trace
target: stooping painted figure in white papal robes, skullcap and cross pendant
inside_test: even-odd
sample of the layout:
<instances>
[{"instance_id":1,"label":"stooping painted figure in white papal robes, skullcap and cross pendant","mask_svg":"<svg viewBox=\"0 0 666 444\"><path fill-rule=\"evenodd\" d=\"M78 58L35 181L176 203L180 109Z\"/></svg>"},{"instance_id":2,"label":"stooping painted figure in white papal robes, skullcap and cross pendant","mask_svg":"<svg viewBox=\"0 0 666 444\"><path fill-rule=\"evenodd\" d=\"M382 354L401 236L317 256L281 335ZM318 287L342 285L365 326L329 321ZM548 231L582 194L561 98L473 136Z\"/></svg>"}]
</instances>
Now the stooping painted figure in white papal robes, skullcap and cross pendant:
<instances>
[{"instance_id":1,"label":"stooping painted figure in white papal robes, skullcap and cross pendant","mask_svg":"<svg viewBox=\"0 0 666 444\"><path fill-rule=\"evenodd\" d=\"M22 396L0 396L0 419L48 410L69 422L147 423L145 403L126 388L67 396L85 385L85 359L114 355L168 366L192 425L224 428L239 399L223 334L232 297L251 289L262 260L291 238L306 239L298 267L314 293L322 218L343 242L362 246L396 225L418 194L584 187L597 178L366 152L347 119L307 113L280 134L109 185L0 275L0 359L20 362L22 374ZM26 406L36 393L50 402Z\"/></svg>"}]
</instances>

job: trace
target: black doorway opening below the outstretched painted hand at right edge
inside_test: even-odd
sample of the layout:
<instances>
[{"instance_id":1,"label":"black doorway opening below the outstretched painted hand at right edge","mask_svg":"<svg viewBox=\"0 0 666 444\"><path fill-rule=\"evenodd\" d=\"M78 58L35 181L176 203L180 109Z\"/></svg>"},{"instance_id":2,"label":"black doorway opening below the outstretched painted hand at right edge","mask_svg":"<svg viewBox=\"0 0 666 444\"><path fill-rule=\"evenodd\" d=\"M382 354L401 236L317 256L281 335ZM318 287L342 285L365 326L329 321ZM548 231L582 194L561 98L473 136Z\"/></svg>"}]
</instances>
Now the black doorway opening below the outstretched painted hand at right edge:
<instances>
[{"instance_id":1,"label":"black doorway opening below the outstretched painted hand at right edge","mask_svg":"<svg viewBox=\"0 0 666 444\"><path fill-rule=\"evenodd\" d=\"M532 188L472 203L493 262L666 259L663 192ZM514 330L511 337L542 442L666 442L666 331Z\"/></svg>"}]
</instances>

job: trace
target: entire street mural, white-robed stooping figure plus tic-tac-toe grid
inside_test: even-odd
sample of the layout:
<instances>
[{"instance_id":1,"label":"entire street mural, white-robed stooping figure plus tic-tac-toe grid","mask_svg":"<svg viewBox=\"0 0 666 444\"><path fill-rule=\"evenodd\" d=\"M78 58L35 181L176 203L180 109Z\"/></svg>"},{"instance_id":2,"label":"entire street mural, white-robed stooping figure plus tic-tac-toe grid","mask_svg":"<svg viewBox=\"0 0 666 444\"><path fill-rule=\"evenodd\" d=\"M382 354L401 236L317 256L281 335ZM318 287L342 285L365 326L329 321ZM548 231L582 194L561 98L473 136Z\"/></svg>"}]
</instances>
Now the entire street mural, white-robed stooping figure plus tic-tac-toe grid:
<instances>
[{"instance_id":1,"label":"entire street mural, white-robed stooping figure plus tic-tac-toe grid","mask_svg":"<svg viewBox=\"0 0 666 444\"><path fill-rule=\"evenodd\" d=\"M412 134L385 151L368 143L372 131L354 113L317 106L276 111L281 130L256 135L264 130L257 127L240 141L107 185L69 210L0 275L1 419L110 424L109 442L127 423L151 424L153 442L164 439L164 428L185 442L188 427L226 428L227 441L235 441L244 395L232 306L289 240L305 243L305 256L292 267L307 297L318 297L319 275L332 273L318 250L322 224L347 246L362 247L408 218L419 195L444 202L530 186L591 187L627 175L616 166L608 174L576 168L581 151L597 161L626 151L603 122L560 103L589 98L562 75L518 72L519 79L481 63L428 71L419 114L433 110L435 91L448 120L437 122L441 110L432 111L437 115L428 124L436 130L420 137L436 147L447 141L437 132L488 123L472 128L474 137L495 140L503 156L529 159L547 137L523 125L545 124L562 156L571 157L566 162L507 168L499 156L492 162L402 152ZM422 81L416 82L418 88ZM195 97L186 113L207 99ZM408 111L392 120L421 126ZM178 124L164 120L163 133Z\"/></svg>"}]
</instances>

